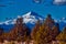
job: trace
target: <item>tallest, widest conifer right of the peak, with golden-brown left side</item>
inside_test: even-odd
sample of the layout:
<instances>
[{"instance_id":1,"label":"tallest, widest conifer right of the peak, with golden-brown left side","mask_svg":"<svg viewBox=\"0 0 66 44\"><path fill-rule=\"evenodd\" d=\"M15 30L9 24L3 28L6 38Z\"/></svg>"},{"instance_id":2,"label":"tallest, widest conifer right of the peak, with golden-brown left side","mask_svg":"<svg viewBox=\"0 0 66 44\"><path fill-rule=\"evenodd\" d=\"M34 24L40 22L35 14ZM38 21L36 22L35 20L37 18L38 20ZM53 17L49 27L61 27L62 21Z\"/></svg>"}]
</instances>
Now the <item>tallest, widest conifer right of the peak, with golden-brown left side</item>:
<instances>
[{"instance_id":1,"label":"tallest, widest conifer right of the peak, with golden-brown left side","mask_svg":"<svg viewBox=\"0 0 66 44\"><path fill-rule=\"evenodd\" d=\"M58 34L58 24L57 26L55 25L51 14L47 15L44 23L37 29L38 31L34 34L35 44L50 44Z\"/></svg>"}]
</instances>

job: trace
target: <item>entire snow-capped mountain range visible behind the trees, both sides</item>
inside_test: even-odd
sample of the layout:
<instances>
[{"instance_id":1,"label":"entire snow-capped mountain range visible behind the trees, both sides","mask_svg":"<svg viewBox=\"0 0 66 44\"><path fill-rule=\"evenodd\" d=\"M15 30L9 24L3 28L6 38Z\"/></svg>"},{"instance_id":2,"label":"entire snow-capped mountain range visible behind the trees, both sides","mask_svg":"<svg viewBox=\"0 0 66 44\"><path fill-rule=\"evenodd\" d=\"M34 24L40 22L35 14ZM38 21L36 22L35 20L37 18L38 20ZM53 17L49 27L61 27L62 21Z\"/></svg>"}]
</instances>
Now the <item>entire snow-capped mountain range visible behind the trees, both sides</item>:
<instances>
[{"instance_id":1,"label":"entire snow-capped mountain range visible behind the trees, both sides","mask_svg":"<svg viewBox=\"0 0 66 44\"><path fill-rule=\"evenodd\" d=\"M18 15L18 18L23 18L23 23L25 23L28 25L28 28L32 29L35 23L37 22L37 20L40 20L41 22L43 22L45 20L44 16L38 15L35 12L28 12L23 15ZM15 24L16 19L12 19L12 20L7 20L4 22L0 22L0 26L3 28L6 31L12 29ZM54 20L56 23L59 23L59 28L61 30L66 26L66 18L63 18L61 20Z\"/></svg>"}]
</instances>

